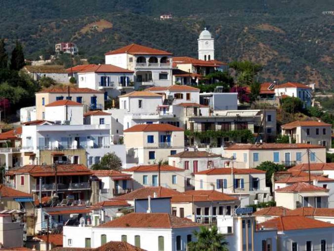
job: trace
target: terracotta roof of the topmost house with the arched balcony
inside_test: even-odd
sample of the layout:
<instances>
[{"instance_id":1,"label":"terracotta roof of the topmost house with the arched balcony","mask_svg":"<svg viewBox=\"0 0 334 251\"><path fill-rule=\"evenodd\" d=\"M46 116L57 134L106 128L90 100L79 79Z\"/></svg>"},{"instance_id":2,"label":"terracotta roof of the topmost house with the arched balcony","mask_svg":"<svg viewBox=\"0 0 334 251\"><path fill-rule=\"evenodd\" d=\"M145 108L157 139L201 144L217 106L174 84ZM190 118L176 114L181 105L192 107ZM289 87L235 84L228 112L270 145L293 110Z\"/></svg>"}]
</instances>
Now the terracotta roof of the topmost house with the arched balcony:
<instances>
[{"instance_id":1,"label":"terracotta roof of the topmost house with the arched balcony","mask_svg":"<svg viewBox=\"0 0 334 251\"><path fill-rule=\"evenodd\" d=\"M137 44L131 44L117 50L110 50L105 55L113 55L113 54L120 54L120 53L127 53L131 55L172 55L172 53L167 52L165 50L158 50L153 49L146 46L140 46Z\"/></svg>"}]
</instances>

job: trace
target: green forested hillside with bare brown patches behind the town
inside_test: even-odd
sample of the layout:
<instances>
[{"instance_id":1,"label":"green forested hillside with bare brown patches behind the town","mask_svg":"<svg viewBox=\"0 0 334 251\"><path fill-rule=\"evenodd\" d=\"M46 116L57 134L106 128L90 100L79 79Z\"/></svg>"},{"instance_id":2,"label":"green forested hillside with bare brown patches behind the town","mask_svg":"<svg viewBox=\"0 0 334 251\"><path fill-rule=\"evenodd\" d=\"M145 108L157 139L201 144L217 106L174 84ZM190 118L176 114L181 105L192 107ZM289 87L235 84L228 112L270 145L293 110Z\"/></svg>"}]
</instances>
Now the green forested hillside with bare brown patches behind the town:
<instances>
[{"instance_id":1,"label":"green forested hillside with bare brown patches behind the town","mask_svg":"<svg viewBox=\"0 0 334 251\"><path fill-rule=\"evenodd\" d=\"M57 42L73 41L84 56L139 43L197 56L204 27L216 57L264 65L262 80L316 82L334 89L331 0L0 0L0 37L8 50L19 39L34 59ZM332 2L333 3L333 2ZM161 21L171 13L173 20ZM90 31L103 20L106 29ZM102 27L102 23L101 27Z\"/></svg>"}]
</instances>

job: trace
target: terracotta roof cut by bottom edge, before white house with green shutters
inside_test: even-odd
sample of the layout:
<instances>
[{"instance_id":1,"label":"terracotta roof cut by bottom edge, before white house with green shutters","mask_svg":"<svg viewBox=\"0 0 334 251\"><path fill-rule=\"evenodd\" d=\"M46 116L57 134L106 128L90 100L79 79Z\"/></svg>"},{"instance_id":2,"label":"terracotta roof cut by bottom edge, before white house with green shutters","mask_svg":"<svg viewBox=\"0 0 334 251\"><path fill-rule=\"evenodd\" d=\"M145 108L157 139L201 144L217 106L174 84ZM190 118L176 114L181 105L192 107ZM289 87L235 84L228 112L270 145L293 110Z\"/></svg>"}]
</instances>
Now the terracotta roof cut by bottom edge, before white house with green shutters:
<instances>
[{"instance_id":1,"label":"terracotta roof cut by bottom edge, before white house with green shutters","mask_svg":"<svg viewBox=\"0 0 334 251\"><path fill-rule=\"evenodd\" d=\"M145 251L127 242L108 242L98 248L55 248L52 251Z\"/></svg>"}]
</instances>

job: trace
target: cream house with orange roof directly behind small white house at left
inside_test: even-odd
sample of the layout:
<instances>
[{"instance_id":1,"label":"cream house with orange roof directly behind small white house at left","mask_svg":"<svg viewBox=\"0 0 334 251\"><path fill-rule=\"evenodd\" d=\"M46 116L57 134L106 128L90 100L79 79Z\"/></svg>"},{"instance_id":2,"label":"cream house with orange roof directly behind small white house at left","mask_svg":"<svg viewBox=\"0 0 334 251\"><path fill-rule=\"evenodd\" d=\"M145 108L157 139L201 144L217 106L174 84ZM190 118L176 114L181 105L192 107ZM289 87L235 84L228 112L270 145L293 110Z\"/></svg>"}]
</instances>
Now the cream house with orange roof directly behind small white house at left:
<instances>
[{"instance_id":1,"label":"cream house with orange roof directly behind small white house at left","mask_svg":"<svg viewBox=\"0 0 334 251\"><path fill-rule=\"evenodd\" d=\"M83 104L83 110L104 109L104 93L88 88L53 87L42 90L36 97L36 119L45 119L45 106L57 100L72 100Z\"/></svg>"}]
</instances>

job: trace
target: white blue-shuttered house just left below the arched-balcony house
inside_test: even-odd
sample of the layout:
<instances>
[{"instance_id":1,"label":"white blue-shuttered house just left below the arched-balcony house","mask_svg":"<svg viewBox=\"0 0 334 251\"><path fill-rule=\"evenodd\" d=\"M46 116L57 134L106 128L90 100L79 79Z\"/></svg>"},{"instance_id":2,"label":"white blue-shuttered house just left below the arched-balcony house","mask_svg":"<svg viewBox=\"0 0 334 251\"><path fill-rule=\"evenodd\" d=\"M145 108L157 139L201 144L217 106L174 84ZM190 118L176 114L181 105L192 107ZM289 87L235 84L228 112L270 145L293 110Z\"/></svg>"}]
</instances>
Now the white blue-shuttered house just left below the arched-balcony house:
<instances>
[{"instance_id":1,"label":"white blue-shuttered house just left below the arched-balcony house","mask_svg":"<svg viewBox=\"0 0 334 251\"><path fill-rule=\"evenodd\" d=\"M104 99L133 90L133 71L111 64L99 64L78 72L80 88L100 90Z\"/></svg>"}]
</instances>

